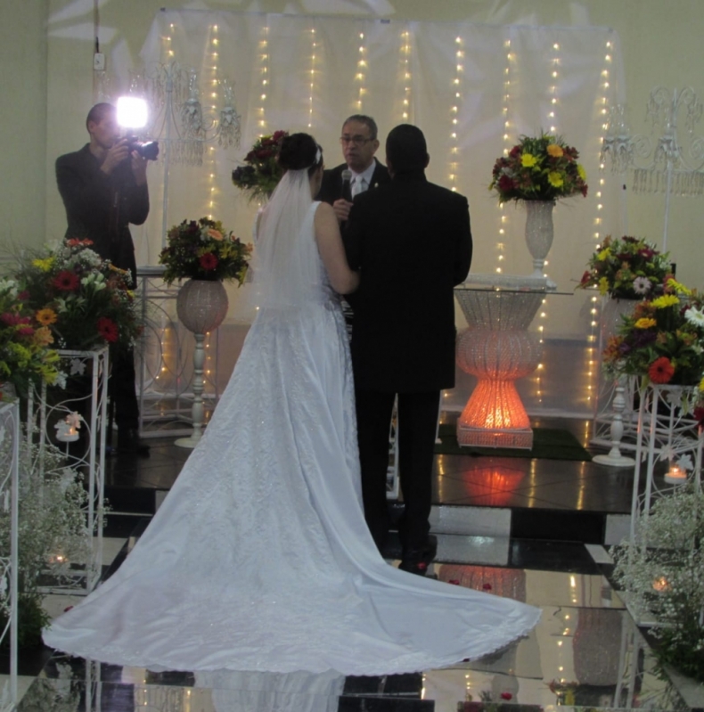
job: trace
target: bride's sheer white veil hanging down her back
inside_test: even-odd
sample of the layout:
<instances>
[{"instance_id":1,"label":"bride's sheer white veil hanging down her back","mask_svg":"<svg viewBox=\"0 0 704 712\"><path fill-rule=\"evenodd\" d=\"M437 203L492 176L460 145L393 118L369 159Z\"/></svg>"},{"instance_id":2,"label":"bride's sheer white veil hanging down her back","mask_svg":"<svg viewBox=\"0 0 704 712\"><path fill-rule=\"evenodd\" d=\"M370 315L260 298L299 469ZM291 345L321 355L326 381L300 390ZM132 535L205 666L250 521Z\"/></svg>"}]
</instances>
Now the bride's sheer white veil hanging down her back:
<instances>
[{"instance_id":1,"label":"bride's sheer white veil hanging down her back","mask_svg":"<svg viewBox=\"0 0 704 712\"><path fill-rule=\"evenodd\" d=\"M297 307L317 291L317 265L300 240L312 202L307 168L288 170L262 212L252 262L259 308Z\"/></svg>"}]
</instances>

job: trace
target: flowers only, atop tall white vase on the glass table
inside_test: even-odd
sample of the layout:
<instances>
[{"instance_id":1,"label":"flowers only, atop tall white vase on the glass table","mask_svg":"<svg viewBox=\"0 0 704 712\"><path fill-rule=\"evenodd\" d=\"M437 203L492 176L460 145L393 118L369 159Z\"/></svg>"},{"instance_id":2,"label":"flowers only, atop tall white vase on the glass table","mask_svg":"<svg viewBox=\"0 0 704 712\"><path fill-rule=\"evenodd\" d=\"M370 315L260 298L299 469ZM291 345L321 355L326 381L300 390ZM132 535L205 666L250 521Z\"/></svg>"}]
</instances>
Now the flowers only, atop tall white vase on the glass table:
<instances>
[{"instance_id":1,"label":"flowers only, atop tall white vase on the glass table","mask_svg":"<svg viewBox=\"0 0 704 712\"><path fill-rule=\"evenodd\" d=\"M578 158L577 149L559 136L520 136L507 156L496 159L489 190L495 190L502 203L586 196L586 173Z\"/></svg>"}]
</instances>

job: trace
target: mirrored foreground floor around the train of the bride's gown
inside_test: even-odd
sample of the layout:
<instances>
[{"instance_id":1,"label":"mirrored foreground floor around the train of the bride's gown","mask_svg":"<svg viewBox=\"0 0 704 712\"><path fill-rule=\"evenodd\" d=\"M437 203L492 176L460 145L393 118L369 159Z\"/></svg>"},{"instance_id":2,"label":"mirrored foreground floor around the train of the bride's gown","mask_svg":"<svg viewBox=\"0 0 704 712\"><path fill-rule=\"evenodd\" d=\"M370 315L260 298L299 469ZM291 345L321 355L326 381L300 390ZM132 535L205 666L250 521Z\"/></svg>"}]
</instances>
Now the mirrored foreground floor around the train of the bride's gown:
<instances>
[{"instance_id":1,"label":"mirrored foreground floor around the train of the bride's gown","mask_svg":"<svg viewBox=\"0 0 704 712\"><path fill-rule=\"evenodd\" d=\"M600 575L436 564L438 578L541 602L527 636L485 658L416 675L350 677L153 672L55 654L20 702L34 710L160 712L521 712L687 709L618 595Z\"/></svg>"}]
</instances>

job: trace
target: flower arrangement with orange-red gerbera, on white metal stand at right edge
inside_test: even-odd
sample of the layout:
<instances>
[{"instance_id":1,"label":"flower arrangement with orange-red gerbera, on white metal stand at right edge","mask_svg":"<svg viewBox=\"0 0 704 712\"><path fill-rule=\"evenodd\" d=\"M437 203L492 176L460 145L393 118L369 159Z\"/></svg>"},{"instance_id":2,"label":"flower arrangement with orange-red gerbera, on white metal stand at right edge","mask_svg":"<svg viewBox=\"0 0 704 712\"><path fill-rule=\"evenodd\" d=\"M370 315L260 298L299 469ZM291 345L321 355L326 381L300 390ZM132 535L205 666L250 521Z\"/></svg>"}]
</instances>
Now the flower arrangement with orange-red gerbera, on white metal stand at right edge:
<instances>
[{"instance_id":1,"label":"flower arrangement with orange-red gerbera, on white metal stand at right edge","mask_svg":"<svg viewBox=\"0 0 704 712\"><path fill-rule=\"evenodd\" d=\"M607 372L656 384L699 386L704 397L704 296L670 278L659 297L624 316L603 358ZM694 405L700 405L695 403Z\"/></svg>"}]
</instances>

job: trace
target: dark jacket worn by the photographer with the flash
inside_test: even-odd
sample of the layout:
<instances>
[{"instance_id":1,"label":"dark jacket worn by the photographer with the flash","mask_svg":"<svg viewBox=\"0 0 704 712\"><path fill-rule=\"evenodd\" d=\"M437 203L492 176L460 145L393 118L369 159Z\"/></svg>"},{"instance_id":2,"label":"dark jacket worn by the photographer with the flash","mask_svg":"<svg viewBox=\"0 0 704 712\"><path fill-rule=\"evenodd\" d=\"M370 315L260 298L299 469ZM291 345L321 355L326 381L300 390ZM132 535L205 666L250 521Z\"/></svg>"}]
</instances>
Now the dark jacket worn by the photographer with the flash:
<instances>
[{"instance_id":1,"label":"dark jacket worn by the photographer with the flash","mask_svg":"<svg viewBox=\"0 0 704 712\"><path fill-rule=\"evenodd\" d=\"M129 223L142 225L149 215L149 189L135 184L129 160L111 176L100 169L90 144L56 160L56 183L66 208L66 238L93 241L92 250L129 269L135 279L135 245Z\"/></svg>"}]
</instances>

